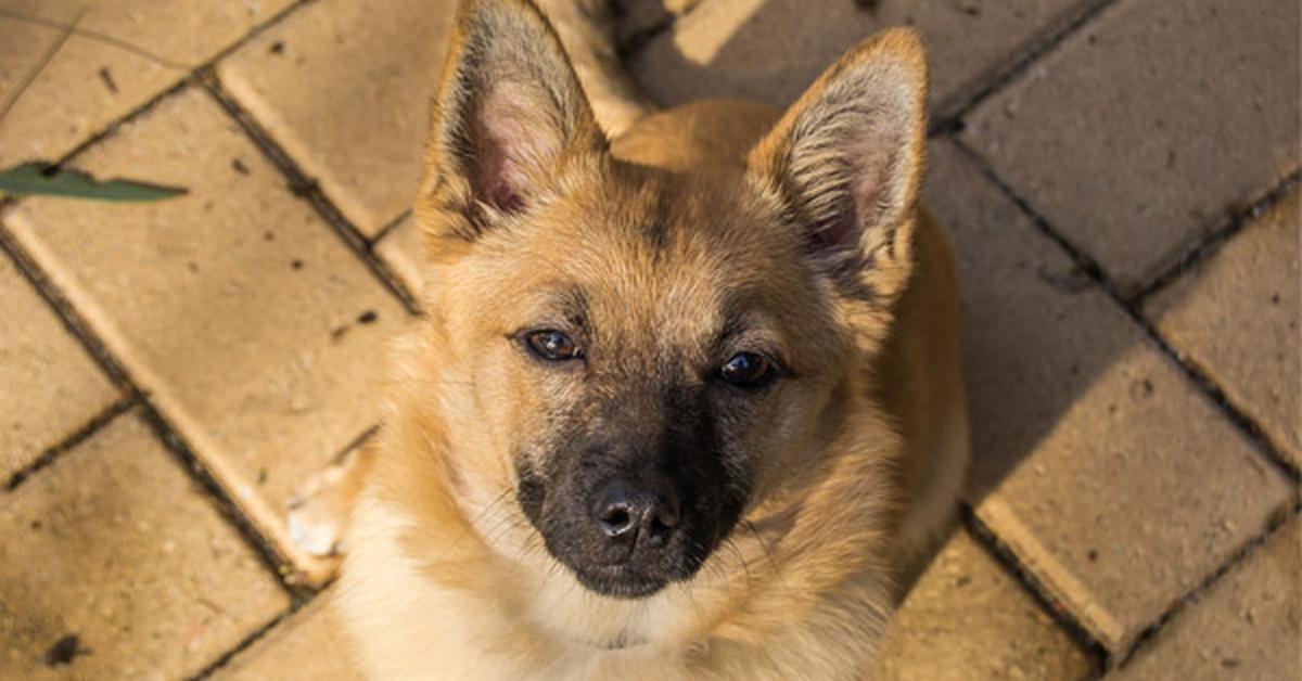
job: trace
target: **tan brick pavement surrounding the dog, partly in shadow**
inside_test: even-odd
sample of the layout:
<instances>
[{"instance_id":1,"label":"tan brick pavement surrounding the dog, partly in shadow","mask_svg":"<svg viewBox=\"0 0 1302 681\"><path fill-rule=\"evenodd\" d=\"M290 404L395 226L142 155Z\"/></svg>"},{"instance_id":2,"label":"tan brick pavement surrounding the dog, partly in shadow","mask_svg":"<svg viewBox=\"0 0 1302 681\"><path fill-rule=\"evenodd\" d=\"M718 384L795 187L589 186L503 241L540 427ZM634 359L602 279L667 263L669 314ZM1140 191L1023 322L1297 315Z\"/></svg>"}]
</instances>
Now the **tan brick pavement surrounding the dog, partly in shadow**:
<instances>
[{"instance_id":1,"label":"tan brick pavement surrounding the dog, partly in shadow","mask_svg":"<svg viewBox=\"0 0 1302 681\"><path fill-rule=\"evenodd\" d=\"M79 7L0 7L0 165L189 194L0 207L0 678L352 678L284 504L378 423L452 1ZM1302 674L1298 14L702 0L639 25L664 104L784 104L876 27L931 42L975 461L884 677Z\"/></svg>"}]
</instances>

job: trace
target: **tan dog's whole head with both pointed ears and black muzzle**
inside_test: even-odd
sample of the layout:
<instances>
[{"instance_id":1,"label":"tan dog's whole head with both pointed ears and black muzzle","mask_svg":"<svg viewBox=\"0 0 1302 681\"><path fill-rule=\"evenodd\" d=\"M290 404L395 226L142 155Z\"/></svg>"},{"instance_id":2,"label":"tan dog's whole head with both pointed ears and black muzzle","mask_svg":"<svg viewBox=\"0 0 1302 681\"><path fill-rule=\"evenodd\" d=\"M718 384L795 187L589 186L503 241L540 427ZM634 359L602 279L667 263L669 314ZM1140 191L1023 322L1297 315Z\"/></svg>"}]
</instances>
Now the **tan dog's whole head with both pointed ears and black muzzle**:
<instances>
[{"instance_id":1,"label":"tan dog's whole head with both pointed ears and black muzzle","mask_svg":"<svg viewBox=\"0 0 1302 681\"><path fill-rule=\"evenodd\" d=\"M909 277L924 78L888 33L749 154L656 168L612 155L530 4L465 3L417 208L462 493L637 598L798 486Z\"/></svg>"}]
</instances>

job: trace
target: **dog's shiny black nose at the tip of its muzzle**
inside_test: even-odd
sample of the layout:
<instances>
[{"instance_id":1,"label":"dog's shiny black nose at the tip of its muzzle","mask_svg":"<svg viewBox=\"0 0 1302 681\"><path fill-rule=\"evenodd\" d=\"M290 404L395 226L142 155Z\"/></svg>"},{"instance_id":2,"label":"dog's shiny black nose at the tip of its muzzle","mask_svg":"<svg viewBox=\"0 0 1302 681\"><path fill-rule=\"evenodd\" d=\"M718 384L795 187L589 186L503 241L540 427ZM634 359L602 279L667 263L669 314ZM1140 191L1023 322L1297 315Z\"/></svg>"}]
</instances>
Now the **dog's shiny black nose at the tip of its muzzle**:
<instances>
[{"instance_id":1,"label":"dog's shiny black nose at the tip of its muzzle","mask_svg":"<svg viewBox=\"0 0 1302 681\"><path fill-rule=\"evenodd\" d=\"M594 509L605 536L620 542L663 543L678 526L678 496L660 480L634 484L616 480L598 496Z\"/></svg>"}]
</instances>

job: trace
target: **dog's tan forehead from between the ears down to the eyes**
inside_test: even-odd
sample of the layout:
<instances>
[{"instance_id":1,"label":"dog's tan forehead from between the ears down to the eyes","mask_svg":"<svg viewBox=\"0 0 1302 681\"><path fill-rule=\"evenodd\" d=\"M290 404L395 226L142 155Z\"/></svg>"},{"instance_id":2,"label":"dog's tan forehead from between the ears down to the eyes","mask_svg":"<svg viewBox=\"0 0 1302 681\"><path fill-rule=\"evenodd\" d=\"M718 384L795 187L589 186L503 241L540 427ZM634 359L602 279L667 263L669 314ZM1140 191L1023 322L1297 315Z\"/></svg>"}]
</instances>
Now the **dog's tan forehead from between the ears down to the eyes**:
<instances>
[{"instance_id":1,"label":"dog's tan forehead from between the ears down to the eyes","mask_svg":"<svg viewBox=\"0 0 1302 681\"><path fill-rule=\"evenodd\" d=\"M831 328L798 240L741 178L624 174L568 184L436 280L475 301L460 310L477 328L583 326L648 357L721 352L738 331L793 348Z\"/></svg>"}]
</instances>

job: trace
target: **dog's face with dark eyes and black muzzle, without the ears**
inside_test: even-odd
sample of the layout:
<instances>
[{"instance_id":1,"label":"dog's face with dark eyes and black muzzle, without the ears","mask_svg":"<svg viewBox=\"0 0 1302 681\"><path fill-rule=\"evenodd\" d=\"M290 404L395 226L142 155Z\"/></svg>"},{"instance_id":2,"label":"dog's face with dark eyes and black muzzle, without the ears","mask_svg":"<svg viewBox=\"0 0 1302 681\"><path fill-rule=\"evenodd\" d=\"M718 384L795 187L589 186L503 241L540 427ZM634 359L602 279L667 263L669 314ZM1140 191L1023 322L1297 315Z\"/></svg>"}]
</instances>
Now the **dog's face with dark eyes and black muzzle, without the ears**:
<instances>
[{"instance_id":1,"label":"dog's face with dark eyes and black muzzle, without the ears","mask_svg":"<svg viewBox=\"0 0 1302 681\"><path fill-rule=\"evenodd\" d=\"M523 514L603 594L691 577L844 366L799 243L745 186L694 180L581 168L443 271L491 405L464 427L497 434Z\"/></svg>"}]
</instances>

